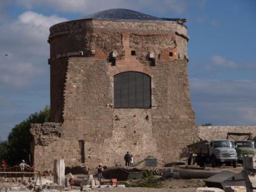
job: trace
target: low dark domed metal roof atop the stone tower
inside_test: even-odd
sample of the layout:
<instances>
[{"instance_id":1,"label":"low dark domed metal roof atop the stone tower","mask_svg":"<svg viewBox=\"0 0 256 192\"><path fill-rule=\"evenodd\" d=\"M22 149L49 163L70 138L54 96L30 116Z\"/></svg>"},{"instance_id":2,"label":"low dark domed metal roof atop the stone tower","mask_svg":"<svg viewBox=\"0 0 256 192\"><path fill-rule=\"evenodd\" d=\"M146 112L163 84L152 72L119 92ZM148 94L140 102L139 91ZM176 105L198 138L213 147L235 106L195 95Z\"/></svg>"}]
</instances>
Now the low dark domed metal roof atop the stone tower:
<instances>
[{"instance_id":1,"label":"low dark domed metal roof atop the stone tower","mask_svg":"<svg viewBox=\"0 0 256 192\"><path fill-rule=\"evenodd\" d=\"M129 9L108 9L90 14L86 19L111 19L111 20L135 20L135 21L165 21L165 19L140 13Z\"/></svg>"}]
</instances>

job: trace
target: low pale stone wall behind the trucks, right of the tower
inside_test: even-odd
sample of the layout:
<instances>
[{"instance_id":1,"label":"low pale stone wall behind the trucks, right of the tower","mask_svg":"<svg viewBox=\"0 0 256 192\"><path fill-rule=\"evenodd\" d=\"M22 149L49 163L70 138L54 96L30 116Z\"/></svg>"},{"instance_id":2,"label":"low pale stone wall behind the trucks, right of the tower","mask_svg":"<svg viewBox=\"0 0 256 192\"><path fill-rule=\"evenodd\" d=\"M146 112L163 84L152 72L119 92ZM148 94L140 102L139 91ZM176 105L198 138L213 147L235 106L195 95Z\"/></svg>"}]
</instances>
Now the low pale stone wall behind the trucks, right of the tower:
<instances>
[{"instance_id":1,"label":"low pale stone wall behind the trucks, right of the tower","mask_svg":"<svg viewBox=\"0 0 256 192\"><path fill-rule=\"evenodd\" d=\"M256 126L198 126L198 137L202 139L226 139L227 133L251 133L256 137ZM241 139L241 138L240 138Z\"/></svg>"}]
</instances>

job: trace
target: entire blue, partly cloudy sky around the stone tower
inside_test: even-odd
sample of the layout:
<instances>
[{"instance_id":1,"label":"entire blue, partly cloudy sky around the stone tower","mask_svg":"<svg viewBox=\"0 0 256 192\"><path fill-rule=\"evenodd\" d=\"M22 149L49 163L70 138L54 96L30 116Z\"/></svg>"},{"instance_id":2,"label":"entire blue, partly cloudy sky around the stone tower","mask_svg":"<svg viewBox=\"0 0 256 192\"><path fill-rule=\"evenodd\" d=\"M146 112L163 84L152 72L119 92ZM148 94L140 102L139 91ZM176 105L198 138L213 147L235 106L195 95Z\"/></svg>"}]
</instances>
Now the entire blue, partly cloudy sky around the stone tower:
<instances>
[{"instance_id":1,"label":"entire blue, partly cloudy sky around the stone tower","mask_svg":"<svg viewBox=\"0 0 256 192\"><path fill-rule=\"evenodd\" d=\"M1 0L1 139L50 103L49 27L113 8L187 18L196 122L256 125L254 0Z\"/></svg>"}]
</instances>

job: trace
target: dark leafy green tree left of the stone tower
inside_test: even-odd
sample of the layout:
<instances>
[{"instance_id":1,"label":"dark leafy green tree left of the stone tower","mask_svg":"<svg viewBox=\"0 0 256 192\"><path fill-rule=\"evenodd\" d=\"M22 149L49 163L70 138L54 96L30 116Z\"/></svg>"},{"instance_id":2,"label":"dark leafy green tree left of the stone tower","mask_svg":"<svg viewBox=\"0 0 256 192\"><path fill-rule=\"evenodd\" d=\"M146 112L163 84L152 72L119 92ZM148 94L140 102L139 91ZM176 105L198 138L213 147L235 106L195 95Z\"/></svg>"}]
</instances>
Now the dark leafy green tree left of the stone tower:
<instances>
[{"instance_id":1,"label":"dark leafy green tree left of the stone tower","mask_svg":"<svg viewBox=\"0 0 256 192\"><path fill-rule=\"evenodd\" d=\"M30 123L44 123L50 121L50 107L29 115L11 130L6 142L0 145L0 158L6 159L10 165L16 165L22 159L29 161L30 143L33 136L30 133ZM1 153L3 151L3 153Z\"/></svg>"}]
</instances>

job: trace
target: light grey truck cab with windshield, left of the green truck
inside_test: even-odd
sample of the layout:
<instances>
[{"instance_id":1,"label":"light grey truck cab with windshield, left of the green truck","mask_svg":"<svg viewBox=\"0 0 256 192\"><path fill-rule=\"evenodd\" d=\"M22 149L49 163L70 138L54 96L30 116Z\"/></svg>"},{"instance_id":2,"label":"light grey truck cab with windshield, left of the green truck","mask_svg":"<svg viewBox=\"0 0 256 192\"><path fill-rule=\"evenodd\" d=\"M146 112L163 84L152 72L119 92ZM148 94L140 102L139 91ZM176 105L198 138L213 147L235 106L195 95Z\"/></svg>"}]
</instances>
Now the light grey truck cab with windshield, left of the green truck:
<instances>
[{"instance_id":1,"label":"light grey truck cab with windshield, left of the green truck","mask_svg":"<svg viewBox=\"0 0 256 192\"><path fill-rule=\"evenodd\" d=\"M226 164L237 167L237 151L233 141L229 139L215 139L208 145L210 162L213 167Z\"/></svg>"}]
</instances>

